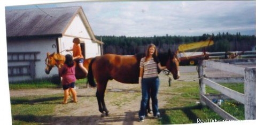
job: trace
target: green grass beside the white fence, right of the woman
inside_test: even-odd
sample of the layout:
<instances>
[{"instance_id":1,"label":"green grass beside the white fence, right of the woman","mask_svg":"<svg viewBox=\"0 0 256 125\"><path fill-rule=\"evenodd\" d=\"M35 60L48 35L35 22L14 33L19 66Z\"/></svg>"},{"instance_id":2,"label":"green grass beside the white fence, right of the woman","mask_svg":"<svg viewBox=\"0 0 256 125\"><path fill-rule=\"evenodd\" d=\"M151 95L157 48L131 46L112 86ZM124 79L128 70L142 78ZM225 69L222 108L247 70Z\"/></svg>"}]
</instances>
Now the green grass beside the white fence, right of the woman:
<instances>
[{"instance_id":1,"label":"green grass beside the white fence, right of the woman","mask_svg":"<svg viewBox=\"0 0 256 125\"><path fill-rule=\"evenodd\" d=\"M228 88L234 89L243 93L243 84L221 84ZM167 104L164 109L160 109L163 116L160 120L160 124L185 124L185 123L197 123L197 119L216 119L223 120L220 115L216 114L207 106L196 104L199 101L199 85L198 82L180 82L174 81L170 88L167 87L164 90L160 90L160 94L165 94L171 89L173 96L166 99ZM166 89L167 88L167 89ZM173 88L173 89L172 89ZM206 86L206 92L211 94L218 94L218 91ZM172 94L169 94L172 95ZM160 102L159 102L160 103ZM222 109L234 115L237 119L244 120L244 106L236 103L235 101L225 101L222 103Z\"/></svg>"}]
</instances>

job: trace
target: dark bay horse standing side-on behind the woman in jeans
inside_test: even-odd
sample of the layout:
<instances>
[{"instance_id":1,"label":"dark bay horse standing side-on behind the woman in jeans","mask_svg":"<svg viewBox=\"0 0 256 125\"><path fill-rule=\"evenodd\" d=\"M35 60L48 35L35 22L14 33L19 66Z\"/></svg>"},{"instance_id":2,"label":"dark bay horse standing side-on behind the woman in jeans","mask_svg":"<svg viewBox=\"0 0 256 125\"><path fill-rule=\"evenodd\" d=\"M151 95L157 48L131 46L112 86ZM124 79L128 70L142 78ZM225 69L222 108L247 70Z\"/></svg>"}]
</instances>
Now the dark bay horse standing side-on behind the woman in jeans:
<instances>
[{"instance_id":1,"label":"dark bay horse standing side-on behind the woman in jeans","mask_svg":"<svg viewBox=\"0 0 256 125\"><path fill-rule=\"evenodd\" d=\"M138 84L139 63L144 54L133 56L121 56L114 54L105 54L97 56L91 60L88 71L88 81L92 87L96 87L94 78L97 82L97 101L99 112L102 116L108 116L108 110L104 101L104 92L106 90L107 81L115 79L124 84ZM159 53L158 58L162 66L173 74L174 79L179 79L179 58L175 53ZM160 71L159 71L160 73Z\"/></svg>"}]
</instances>

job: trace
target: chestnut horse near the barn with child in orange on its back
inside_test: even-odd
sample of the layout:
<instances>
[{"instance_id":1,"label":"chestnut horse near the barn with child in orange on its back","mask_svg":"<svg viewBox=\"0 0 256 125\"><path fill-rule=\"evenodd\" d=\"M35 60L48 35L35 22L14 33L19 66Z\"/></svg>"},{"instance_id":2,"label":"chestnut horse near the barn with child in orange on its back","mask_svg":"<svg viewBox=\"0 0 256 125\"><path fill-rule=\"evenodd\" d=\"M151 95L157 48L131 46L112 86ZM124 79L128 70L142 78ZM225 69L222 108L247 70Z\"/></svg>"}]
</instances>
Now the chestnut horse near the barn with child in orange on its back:
<instances>
[{"instance_id":1,"label":"chestnut horse near the barn with child in orange on its back","mask_svg":"<svg viewBox=\"0 0 256 125\"><path fill-rule=\"evenodd\" d=\"M83 61L83 66L88 70L88 66L89 63L91 62L92 58L89 59L85 59ZM45 59L45 64L46 64L46 68L45 68L45 73L49 74L51 69L53 67L57 67L60 68L61 65L63 65L65 62L65 56L61 55L61 54L57 54L57 53L52 53L50 54L49 52L47 53L47 57ZM76 64L76 63L75 63ZM83 79L87 77L87 74L85 74L80 68L79 66L75 66L75 77L76 79Z\"/></svg>"}]
</instances>

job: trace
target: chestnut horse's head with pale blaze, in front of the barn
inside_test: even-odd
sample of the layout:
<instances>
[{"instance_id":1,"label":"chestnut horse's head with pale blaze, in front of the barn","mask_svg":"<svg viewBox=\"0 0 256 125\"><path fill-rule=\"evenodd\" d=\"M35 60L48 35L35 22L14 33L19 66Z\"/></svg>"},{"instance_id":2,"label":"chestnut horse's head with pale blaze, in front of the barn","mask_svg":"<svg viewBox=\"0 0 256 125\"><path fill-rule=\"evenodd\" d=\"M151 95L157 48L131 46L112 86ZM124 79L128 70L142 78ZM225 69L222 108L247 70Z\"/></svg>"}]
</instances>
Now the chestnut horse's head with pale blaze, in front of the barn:
<instances>
[{"instance_id":1,"label":"chestnut horse's head with pale blaze, in front of the barn","mask_svg":"<svg viewBox=\"0 0 256 125\"><path fill-rule=\"evenodd\" d=\"M45 59L46 68L44 69L46 74L49 74L51 69L54 66L59 67L60 65L63 65L65 62L65 56L60 54L55 54L55 52L53 52L52 54L48 52L46 55L47 55Z\"/></svg>"}]
</instances>

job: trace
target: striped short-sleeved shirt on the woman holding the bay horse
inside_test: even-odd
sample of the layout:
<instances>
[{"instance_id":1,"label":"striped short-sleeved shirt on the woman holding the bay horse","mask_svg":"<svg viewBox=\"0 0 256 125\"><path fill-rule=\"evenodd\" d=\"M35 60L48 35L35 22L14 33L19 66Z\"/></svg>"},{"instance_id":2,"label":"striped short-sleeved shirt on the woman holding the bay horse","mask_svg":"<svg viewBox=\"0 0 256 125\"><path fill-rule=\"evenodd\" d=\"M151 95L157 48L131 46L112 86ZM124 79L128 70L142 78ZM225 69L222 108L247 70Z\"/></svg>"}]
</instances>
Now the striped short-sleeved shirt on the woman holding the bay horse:
<instances>
[{"instance_id":1,"label":"striped short-sleeved shirt on the woman holding the bay horse","mask_svg":"<svg viewBox=\"0 0 256 125\"><path fill-rule=\"evenodd\" d=\"M144 69L143 78L158 77L157 63L154 62L153 58L148 61L145 61L145 59L146 57L143 57L139 64L139 67Z\"/></svg>"}]
</instances>

